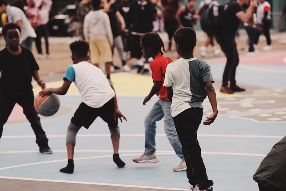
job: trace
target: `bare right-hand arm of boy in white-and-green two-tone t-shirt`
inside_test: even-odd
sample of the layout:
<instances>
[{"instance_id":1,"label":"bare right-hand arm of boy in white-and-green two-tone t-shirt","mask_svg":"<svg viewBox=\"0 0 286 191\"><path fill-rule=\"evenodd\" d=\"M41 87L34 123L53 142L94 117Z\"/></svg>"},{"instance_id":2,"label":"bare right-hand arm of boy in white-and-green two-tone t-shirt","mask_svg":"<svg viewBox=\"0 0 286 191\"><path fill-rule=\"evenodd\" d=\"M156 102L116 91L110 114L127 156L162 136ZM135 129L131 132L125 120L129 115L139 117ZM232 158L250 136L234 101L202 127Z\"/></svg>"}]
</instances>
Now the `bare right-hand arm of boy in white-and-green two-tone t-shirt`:
<instances>
[{"instance_id":1,"label":"bare right-hand arm of boy in white-and-green two-tone t-shirt","mask_svg":"<svg viewBox=\"0 0 286 191\"><path fill-rule=\"evenodd\" d=\"M204 82L206 86L206 94L208 95L208 100L210 101L210 105L212 106L212 114L203 122L204 125L210 125L215 121L217 117L217 97L215 94L215 88L212 86L211 81Z\"/></svg>"}]
</instances>

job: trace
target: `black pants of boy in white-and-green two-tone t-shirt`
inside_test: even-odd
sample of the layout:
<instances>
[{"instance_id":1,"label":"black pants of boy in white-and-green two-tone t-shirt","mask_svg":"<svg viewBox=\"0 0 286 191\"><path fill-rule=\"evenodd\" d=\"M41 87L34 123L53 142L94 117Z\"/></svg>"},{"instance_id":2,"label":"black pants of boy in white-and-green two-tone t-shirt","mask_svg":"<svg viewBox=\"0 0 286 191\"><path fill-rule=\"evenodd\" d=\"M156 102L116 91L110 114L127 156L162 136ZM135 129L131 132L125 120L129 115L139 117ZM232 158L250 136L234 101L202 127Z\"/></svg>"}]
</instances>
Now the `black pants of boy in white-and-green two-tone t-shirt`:
<instances>
[{"instance_id":1,"label":"black pants of boy in white-and-green two-tone t-shirt","mask_svg":"<svg viewBox=\"0 0 286 191\"><path fill-rule=\"evenodd\" d=\"M189 183L193 186L199 184L200 189L212 186L212 180L208 180L206 175L206 167L202 161L202 153L197 140L198 126L202 121L202 109L186 109L173 120L182 144Z\"/></svg>"}]
</instances>

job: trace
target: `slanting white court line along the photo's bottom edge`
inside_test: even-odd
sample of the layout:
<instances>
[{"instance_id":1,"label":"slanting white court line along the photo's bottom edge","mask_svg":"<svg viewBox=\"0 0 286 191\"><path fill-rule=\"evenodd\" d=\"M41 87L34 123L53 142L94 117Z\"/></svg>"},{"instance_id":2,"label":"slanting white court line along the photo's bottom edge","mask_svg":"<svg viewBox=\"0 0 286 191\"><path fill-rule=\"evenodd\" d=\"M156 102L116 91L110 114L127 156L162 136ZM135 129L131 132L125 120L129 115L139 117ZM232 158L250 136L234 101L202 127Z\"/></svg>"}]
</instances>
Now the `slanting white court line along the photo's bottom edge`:
<instances>
[{"instance_id":1,"label":"slanting white court line along the photo's bottom edge","mask_svg":"<svg viewBox=\"0 0 286 191\"><path fill-rule=\"evenodd\" d=\"M30 180L30 181L43 181L43 182L62 182L62 183L72 183L72 184L91 184L91 185L101 185L101 186L120 186L128 188L147 188L147 189L161 189L161 190L186 190L182 188L164 188L164 187L153 187L153 186L136 186L136 185L126 185L126 184L110 184L110 183L100 183L100 182L81 182L81 181L70 181L70 180L49 180L49 179L38 179L38 178L22 178L22 177L9 177L0 176L3 179L13 179L13 180Z\"/></svg>"}]
</instances>

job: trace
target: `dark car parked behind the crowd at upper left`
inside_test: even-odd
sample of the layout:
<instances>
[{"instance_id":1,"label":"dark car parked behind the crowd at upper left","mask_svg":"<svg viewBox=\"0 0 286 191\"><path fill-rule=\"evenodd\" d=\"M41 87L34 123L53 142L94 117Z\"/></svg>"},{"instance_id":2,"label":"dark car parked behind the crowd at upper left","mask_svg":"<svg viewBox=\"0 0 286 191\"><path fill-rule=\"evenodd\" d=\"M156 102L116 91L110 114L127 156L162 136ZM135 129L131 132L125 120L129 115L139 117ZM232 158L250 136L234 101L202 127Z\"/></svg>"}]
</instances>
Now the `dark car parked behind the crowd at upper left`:
<instances>
[{"instance_id":1,"label":"dark car parked behind the crowd at upper left","mask_svg":"<svg viewBox=\"0 0 286 191\"><path fill-rule=\"evenodd\" d=\"M67 5L59 14L54 15L48 22L50 36L69 36L67 28L71 17L76 16L76 5Z\"/></svg>"}]
</instances>

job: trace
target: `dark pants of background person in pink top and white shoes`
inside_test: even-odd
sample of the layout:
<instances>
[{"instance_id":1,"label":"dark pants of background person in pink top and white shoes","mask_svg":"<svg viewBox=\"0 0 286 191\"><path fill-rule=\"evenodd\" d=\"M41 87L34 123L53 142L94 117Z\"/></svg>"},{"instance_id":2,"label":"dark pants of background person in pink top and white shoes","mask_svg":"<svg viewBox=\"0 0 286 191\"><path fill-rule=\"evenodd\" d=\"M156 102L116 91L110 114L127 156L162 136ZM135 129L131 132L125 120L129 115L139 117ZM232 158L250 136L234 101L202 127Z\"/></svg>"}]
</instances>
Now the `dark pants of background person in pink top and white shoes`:
<instances>
[{"instance_id":1,"label":"dark pants of background person in pink top and white shoes","mask_svg":"<svg viewBox=\"0 0 286 191\"><path fill-rule=\"evenodd\" d=\"M48 42L48 28L47 25L40 25L36 30L35 30L37 37L35 38L35 43L36 43L36 48L38 54L43 54L42 51L42 42L41 38L44 37L45 39L45 45L46 45L46 54L49 54L49 42Z\"/></svg>"}]
</instances>

